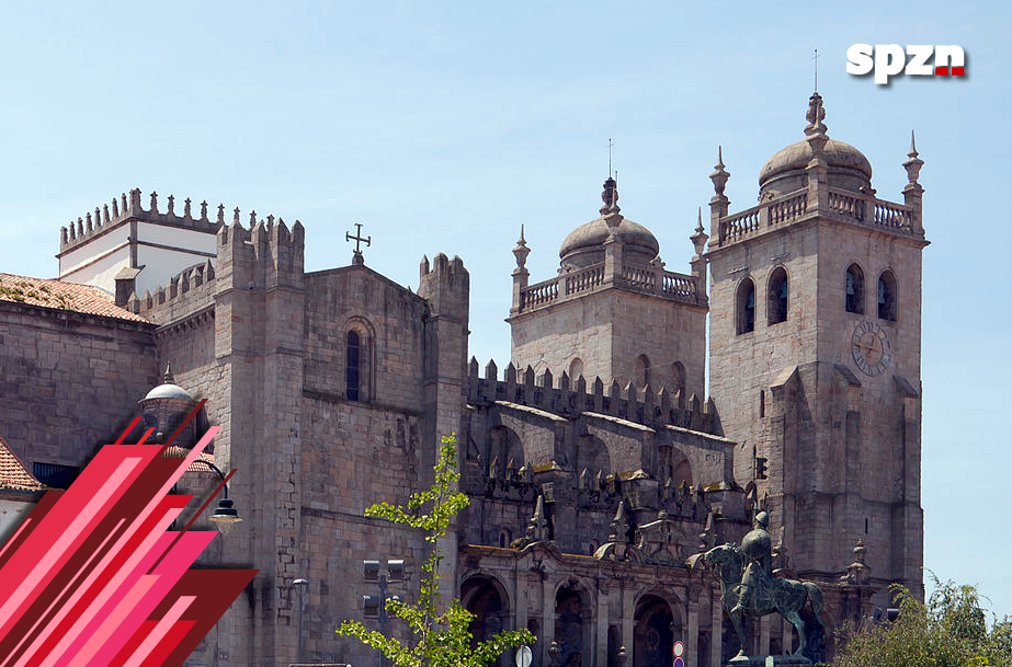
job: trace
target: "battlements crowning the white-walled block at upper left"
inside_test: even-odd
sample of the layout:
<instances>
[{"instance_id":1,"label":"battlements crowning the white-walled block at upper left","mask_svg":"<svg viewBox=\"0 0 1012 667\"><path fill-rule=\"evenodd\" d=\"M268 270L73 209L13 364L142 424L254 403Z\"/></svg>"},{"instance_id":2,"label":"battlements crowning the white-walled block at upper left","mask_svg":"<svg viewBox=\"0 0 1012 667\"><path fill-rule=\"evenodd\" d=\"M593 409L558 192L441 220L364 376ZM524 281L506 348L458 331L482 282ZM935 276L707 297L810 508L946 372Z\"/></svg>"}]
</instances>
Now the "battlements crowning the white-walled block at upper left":
<instances>
[{"instance_id":1,"label":"battlements crowning the white-walled block at upper left","mask_svg":"<svg viewBox=\"0 0 1012 667\"><path fill-rule=\"evenodd\" d=\"M110 204L103 204L102 207L95 206L94 211L88 211L84 216L79 217L77 221L71 220L69 226L61 227L60 254L73 250L93 239L109 229L118 227L128 220L141 220L146 222L157 222L161 225L171 225L194 231L215 233L218 228L225 223L225 205L218 205L217 219L212 221L207 217L207 202L201 202L200 217L194 217L192 205L189 197L183 200L183 215L175 214L175 197L169 195L168 206L164 212L158 210L158 193L151 192L149 195L148 208L141 206L140 189L135 187L129 192L113 197ZM239 209L236 209L238 212ZM92 215L93 214L93 215Z\"/></svg>"}]
</instances>

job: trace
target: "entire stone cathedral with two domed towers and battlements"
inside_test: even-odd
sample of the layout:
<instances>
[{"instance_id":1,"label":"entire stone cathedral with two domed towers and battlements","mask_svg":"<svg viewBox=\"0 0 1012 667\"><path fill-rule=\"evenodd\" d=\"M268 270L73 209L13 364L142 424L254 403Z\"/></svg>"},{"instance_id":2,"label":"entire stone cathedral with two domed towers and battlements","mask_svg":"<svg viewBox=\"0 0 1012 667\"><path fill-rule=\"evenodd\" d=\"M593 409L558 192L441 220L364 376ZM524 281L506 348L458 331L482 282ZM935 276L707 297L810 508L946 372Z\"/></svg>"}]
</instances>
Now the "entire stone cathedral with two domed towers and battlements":
<instances>
[{"instance_id":1,"label":"entire stone cathedral with two domed towers and battlements","mask_svg":"<svg viewBox=\"0 0 1012 667\"><path fill-rule=\"evenodd\" d=\"M755 206L731 208L718 159L686 273L625 217L612 179L598 217L558 240L557 275L530 275L544 249L521 232L499 364L468 357L458 257L422 258L412 287L357 250L306 272L298 221L113 198L60 230L57 279L0 274L0 503L65 487L134 416L163 437L206 399L179 445L221 427L204 458L238 470L245 520L205 563L260 574L189 664L375 665L334 629L379 628L364 561L410 599L425 543L363 510L428 486L454 433L471 502L443 583L476 636L528 628L536 667L670 667L676 641L686 665L720 667L737 640L718 582L689 563L762 508L775 574L822 588L812 657L831 657L835 630L868 622L890 583L923 595L928 241L912 139L890 202L825 115L816 93ZM215 484L187 473L191 506ZM752 653L797 645L776 616L748 636Z\"/></svg>"}]
</instances>

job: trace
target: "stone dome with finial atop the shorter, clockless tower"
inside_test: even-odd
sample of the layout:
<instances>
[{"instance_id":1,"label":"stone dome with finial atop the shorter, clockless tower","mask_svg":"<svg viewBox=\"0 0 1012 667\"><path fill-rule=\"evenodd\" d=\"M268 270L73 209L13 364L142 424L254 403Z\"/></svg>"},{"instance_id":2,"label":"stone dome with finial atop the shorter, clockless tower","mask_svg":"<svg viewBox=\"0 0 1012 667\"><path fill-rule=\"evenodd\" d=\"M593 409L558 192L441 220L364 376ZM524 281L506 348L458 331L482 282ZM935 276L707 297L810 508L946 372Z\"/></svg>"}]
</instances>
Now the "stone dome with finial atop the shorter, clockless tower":
<instances>
[{"instance_id":1,"label":"stone dome with finial atop the shorter, clockless tower","mask_svg":"<svg viewBox=\"0 0 1012 667\"><path fill-rule=\"evenodd\" d=\"M604 261L604 242L612 228L623 244L623 254L633 262L647 264L660 252L660 244L649 229L622 217L618 188L614 179L604 182L601 217L572 230L559 249L564 268L582 268Z\"/></svg>"}]
</instances>

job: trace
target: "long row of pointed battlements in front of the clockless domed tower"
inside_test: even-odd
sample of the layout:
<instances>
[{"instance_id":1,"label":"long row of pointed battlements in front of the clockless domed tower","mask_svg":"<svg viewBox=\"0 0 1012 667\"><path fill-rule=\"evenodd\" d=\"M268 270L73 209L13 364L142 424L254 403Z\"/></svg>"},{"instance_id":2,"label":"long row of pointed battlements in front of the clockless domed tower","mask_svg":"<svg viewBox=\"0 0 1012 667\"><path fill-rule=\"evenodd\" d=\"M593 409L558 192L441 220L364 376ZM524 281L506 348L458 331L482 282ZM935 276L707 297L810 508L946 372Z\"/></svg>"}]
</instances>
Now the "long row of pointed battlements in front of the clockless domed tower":
<instances>
[{"instance_id":1,"label":"long row of pointed battlements in front of the clockless domed tower","mask_svg":"<svg viewBox=\"0 0 1012 667\"><path fill-rule=\"evenodd\" d=\"M600 377L588 387L583 376L573 381L564 371L556 381L552 371L546 370L535 378L533 368L527 366L519 373L512 363L505 367L501 380L494 361L485 367L484 378L478 371L478 360L471 357L467 367L467 401L475 405L507 401L570 418L596 413L651 428L676 426L717 435L713 400L704 402L694 393L685 398L681 391L671 393L663 388L658 392L649 386L640 389L633 382L622 387L617 380L605 392Z\"/></svg>"}]
</instances>

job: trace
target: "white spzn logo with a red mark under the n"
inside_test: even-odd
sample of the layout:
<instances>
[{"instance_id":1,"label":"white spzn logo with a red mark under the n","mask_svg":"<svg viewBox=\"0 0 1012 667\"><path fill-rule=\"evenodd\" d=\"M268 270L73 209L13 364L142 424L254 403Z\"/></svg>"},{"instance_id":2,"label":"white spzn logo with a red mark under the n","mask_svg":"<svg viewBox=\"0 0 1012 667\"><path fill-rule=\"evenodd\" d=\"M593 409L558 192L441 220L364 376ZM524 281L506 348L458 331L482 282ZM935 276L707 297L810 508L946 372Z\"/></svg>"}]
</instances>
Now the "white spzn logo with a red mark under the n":
<instances>
[{"instance_id":1,"label":"white spzn logo with a red mark under the n","mask_svg":"<svg viewBox=\"0 0 1012 667\"><path fill-rule=\"evenodd\" d=\"M932 54L933 67L928 65ZM862 76L874 70L875 83L880 84L888 83L889 77L900 72L914 77L966 76L966 56L956 45L908 44L907 50L903 50L899 44L855 44L846 49L846 60L848 73Z\"/></svg>"}]
</instances>

